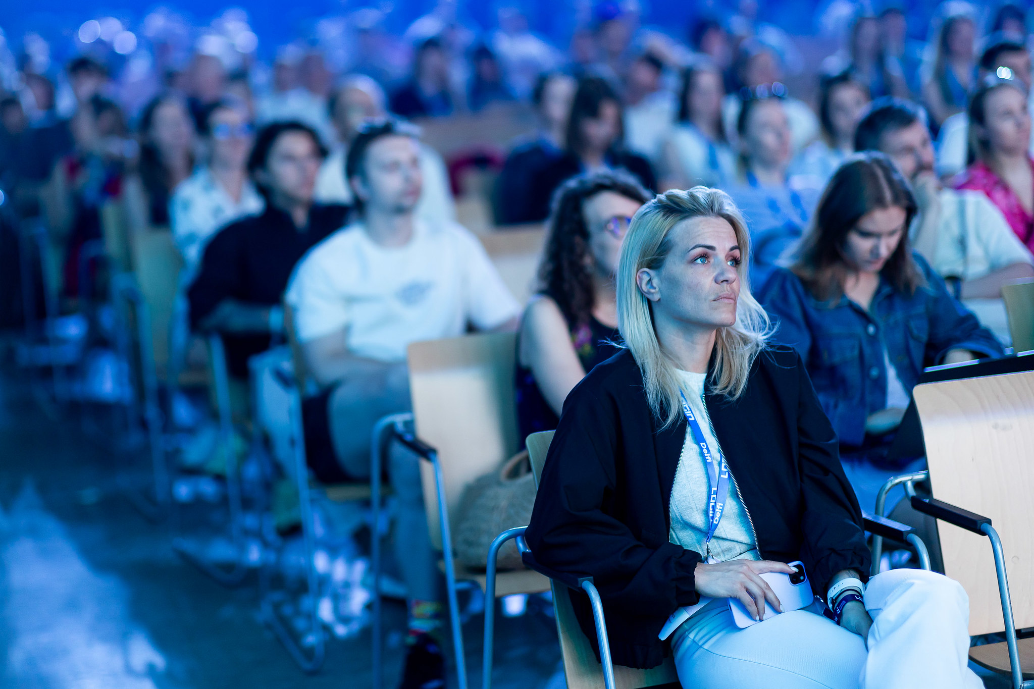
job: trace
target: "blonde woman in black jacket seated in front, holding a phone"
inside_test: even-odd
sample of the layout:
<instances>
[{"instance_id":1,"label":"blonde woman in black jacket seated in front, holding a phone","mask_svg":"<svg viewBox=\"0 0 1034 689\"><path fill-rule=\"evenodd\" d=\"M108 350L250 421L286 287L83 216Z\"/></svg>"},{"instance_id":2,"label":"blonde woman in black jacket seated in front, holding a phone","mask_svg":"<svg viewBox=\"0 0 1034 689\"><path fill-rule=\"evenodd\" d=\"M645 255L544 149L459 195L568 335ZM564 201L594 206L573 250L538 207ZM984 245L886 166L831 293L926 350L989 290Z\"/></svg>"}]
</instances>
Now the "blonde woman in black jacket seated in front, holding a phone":
<instances>
[{"instance_id":1,"label":"blonde woman in black jacket seated in front, holding a phone","mask_svg":"<svg viewBox=\"0 0 1034 689\"><path fill-rule=\"evenodd\" d=\"M767 342L744 283L748 242L718 190L669 191L636 214L616 280L627 349L568 396L531 552L594 577L615 663L653 667L671 653L683 687L982 686L957 583L868 577L837 435L800 357ZM780 609L761 574L797 560L838 621L812 604L738 628L729 599L754 618L766 602ZM595 643L587 599L571 596Z\"/></svg>"}]
</instances>

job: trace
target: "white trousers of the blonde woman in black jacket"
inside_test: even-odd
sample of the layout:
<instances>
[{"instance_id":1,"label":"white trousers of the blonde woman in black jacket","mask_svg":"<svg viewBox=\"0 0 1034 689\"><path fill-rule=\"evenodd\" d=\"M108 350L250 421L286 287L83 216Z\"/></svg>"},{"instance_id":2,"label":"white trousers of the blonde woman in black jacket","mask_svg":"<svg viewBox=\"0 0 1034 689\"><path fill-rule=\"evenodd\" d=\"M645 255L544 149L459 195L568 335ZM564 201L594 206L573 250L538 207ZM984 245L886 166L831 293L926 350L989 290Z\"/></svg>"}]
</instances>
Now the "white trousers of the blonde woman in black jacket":
<instances>
[{"instance_id":1,"label":"white trousers of the blonde woman in black jacket","mask_svg":"<svg viewBox=\"0 0 1034 689\"><path fill-rule=\"evenodd\" d=\"M725 601L714 601L671 637L678 680L707 689L983 687L968 667L969 597L957 582L893 569L870 581L864 600L868 651L813 607L739 629Z\"/></svg>"}]
</instances>

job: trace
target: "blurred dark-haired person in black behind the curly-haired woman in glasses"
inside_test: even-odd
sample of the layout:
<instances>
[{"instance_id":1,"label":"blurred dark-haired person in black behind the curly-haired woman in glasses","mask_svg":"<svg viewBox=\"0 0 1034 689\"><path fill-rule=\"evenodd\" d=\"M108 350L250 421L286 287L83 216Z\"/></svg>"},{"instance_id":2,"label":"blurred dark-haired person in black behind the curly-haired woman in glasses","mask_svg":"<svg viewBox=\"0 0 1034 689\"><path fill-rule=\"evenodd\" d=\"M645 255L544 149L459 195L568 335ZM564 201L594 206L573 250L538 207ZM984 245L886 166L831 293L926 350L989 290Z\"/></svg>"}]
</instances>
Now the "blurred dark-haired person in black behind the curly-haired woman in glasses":
<instances>
[{"instance_id":1,"label":"blurred dark-haired person in black behind the curly-haired woman in glasses","mask_svg":"<svg viewBox=\"0 0 1034 689\"><path fill-rule=\"evenodd\" d=\"M545 220L553 192L575 175L625 169L644 187L657 189L653 168L642 156L622 148L621 101L606 80L587 76L578 83L565 135L565 155L538 176L530 203L536 220Z\"/></svg>"}]
</instances>

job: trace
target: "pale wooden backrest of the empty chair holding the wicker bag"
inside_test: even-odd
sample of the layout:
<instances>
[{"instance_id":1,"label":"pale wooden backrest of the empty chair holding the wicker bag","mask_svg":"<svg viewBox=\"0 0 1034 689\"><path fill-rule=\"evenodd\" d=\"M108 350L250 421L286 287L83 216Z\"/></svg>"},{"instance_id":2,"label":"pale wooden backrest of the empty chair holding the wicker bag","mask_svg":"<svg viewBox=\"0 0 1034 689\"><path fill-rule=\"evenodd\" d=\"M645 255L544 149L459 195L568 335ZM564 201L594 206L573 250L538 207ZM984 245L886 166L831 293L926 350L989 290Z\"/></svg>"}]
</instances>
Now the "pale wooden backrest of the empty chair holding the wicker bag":
<instances>
[{"instance_id":1,"label":"pale wooden backrest of the empty chair holding the wicker bag","mask_svg":"<svg viewBox=\"0 0 1034 689\"><path fill-rule=\"evenodd\" d=\"M492 333L416 342L406 352L417 435L438 451L450 524L466 487L518 449L515 350L514 334ZM421 471L431 542L440 550L434 472L426 462Z\"/></svg>"}]
</instances>

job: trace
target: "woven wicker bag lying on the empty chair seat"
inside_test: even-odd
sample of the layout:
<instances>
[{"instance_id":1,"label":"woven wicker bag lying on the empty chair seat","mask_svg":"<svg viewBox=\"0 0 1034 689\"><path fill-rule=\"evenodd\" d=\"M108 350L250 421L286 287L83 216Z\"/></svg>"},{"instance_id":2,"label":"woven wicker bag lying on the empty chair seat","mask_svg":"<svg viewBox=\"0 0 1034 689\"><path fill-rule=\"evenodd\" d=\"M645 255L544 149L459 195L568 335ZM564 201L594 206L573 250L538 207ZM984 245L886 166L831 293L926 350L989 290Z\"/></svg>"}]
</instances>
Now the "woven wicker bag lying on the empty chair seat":
<instances>
[{"instance_id":1,"label":"woven wicker bag lying on the empty chair seat","mask_svg":"<svg viewBox=\"0 0 1034 689\"><path fill-rule=\"evenodd\" d=\"M492 540L501 531L527 526L534 505L535 477L525 449L464 492L455 533L456 559L465 567L485 569ZM499 549L497 566L500 571L524 566L514 541Z\"/></svg>"}]
</instances>

